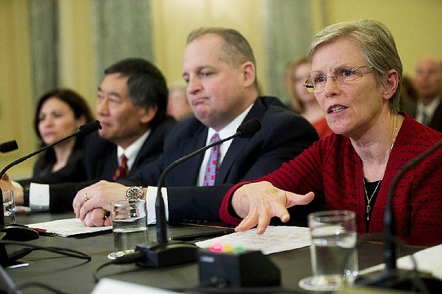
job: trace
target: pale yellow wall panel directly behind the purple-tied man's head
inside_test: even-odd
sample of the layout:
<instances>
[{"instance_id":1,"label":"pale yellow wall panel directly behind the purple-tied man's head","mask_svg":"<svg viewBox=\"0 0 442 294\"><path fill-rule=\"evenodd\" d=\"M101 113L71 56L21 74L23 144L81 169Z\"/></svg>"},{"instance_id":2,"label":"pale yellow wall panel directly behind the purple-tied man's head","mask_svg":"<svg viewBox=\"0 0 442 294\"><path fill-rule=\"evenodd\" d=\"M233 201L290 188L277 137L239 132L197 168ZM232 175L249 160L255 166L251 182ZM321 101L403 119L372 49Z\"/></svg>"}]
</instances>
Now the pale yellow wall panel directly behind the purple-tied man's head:
<instances>
[{"instance_id":1,"label":"pale yellow wall panel directly behind the purple-tied man's head","mask_svg":"<svg viewBox=\"0 0 442 294\"><path fill-rule=\"evenodd\" d=\"M266 72L263 0L153 0L155 63L169 84L182 81L186 37L201 26L234 28L251 43L258 78ZM260 81L262 78L260 78ZM263 89L265 84L261 85Z\"/></svg>"}]
</instances>

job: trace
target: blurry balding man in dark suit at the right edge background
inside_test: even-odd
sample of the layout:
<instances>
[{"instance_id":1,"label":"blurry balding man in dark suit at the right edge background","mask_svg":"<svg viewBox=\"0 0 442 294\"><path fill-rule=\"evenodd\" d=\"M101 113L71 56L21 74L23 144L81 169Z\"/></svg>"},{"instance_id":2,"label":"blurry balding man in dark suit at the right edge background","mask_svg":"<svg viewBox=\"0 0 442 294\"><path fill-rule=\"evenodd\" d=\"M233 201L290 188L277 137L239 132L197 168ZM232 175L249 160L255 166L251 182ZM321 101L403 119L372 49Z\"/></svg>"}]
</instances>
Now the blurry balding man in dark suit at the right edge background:
<instances>
[{"instance_id":1,"label":"blurry balding man in dark suit at the right edge background","mask_svg":"<svg viewBox=\"0 0 442 294\"><path fill-rule=\"evenodd\" d=\"M419 99L416 112L410 115L421 124L442 132L442 62L429 57L419 60L413 81Z\"/></svg>"}]
</instances>

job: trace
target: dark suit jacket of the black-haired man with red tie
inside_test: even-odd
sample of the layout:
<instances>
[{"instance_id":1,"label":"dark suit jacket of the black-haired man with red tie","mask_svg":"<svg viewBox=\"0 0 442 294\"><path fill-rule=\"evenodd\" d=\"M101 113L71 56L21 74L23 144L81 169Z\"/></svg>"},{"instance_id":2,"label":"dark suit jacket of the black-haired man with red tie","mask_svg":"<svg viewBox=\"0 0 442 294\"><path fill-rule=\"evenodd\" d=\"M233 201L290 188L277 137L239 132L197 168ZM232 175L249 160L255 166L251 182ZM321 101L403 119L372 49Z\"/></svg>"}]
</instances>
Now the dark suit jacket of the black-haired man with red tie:
<instances>
[{"instance_id":1,"label":"dark suit jacket of the black-haired man with red tie","mask_svg":"<svg viewBox=\"0 0 442 294\"><path fill-rule=\"evenodd\" d=\"M175 124L175 119L167 117L152 129L151 134L140 149L129 175L136 173L141 166L154 161L162 153L164 138ZM78 190L101 179L112 181L113 174L118 166L117 146L100 138L98 133L94 133L86 141L83 152L84 157L79 168L83 170L85 179L82 179L81 182L76 181L76 179L66 179L65 182L59 184L42 182L43 184L50 184L51 212L73 210L72 202ZM29 197L25 194L26 196ZM28 199L26 200L29 201Z\"/></svg>"}]
</instances>

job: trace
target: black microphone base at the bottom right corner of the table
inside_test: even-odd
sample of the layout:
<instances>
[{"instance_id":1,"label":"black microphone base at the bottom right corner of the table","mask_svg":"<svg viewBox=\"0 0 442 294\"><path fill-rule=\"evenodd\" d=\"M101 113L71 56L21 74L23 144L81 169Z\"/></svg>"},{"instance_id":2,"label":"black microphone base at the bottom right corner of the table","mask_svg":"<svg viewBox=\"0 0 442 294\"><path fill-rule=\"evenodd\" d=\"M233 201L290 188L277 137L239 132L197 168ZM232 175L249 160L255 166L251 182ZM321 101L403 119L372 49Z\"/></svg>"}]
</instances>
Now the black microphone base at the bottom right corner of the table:
<instances>
[{"instance_id":1,"label":"black microphone base at the bottom right corner of the table","mask_svg":"<svg viewBox=\"0 0 442 294\"><path fill-rule=\"evenodd\" d=\"M440 293L442 288L442 280L433 277L430 273L402 269L368 273L359 276L355 284L402 291L413 290L416 293Z\"/></svg>"}]
</instances>

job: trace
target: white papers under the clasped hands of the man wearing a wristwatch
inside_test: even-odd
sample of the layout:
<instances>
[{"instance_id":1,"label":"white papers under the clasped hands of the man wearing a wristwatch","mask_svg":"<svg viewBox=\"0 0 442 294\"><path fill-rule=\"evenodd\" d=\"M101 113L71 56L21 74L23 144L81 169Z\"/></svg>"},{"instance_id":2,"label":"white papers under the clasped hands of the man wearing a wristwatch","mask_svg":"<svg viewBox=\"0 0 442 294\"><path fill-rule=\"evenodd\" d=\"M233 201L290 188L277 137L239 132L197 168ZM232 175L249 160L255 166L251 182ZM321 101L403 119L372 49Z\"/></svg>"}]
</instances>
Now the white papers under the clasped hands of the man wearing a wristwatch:
<instances>
[{"instance_id":1,"label":"white papers under the clasped hands of the man wearing a wristwatch","mask_svg":"<svg viewBox=\"0 0 442 294\"><path fill-rule=\"evenodd\" d=\"M46 235L57 235L68 237L72 235L95 233L99 231L111 230L112 226L84 226L80 219L57 219L50 222L39 222L36 224L28 224L39 233Z\"/></svg>"}]
</instances>

